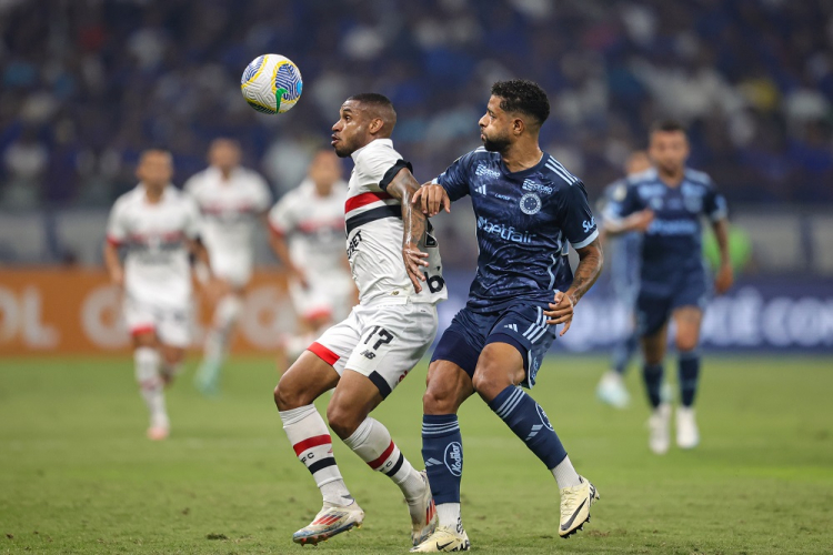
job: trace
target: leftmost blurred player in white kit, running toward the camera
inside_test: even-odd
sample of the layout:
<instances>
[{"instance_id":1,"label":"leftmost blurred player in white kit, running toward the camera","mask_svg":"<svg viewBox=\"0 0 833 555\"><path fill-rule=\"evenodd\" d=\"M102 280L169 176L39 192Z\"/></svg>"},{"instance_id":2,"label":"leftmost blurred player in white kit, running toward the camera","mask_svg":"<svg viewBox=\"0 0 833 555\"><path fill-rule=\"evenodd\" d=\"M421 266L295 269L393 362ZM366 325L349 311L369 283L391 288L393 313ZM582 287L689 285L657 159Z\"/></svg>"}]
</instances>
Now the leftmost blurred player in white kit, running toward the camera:
<instances>
[{"instance_id":1,"label":"leftmost blurred player in white kit, running toward the camera","mask_svg":"<svg viewBox=\"0 0 833 555\"><path fill-rule=\"evenodd\" d=\"M205 268L210 263L199 240L199 210L171 184L170 152L143 152L136 174L139 184L122 194L110 212L104 263L112 282L124 287L136 379L150 411L148 437L164 440L170 421L163 390L191 343L189 253ZM127 249L123 264L120 248Z\"/></svg>"}]
</instances>

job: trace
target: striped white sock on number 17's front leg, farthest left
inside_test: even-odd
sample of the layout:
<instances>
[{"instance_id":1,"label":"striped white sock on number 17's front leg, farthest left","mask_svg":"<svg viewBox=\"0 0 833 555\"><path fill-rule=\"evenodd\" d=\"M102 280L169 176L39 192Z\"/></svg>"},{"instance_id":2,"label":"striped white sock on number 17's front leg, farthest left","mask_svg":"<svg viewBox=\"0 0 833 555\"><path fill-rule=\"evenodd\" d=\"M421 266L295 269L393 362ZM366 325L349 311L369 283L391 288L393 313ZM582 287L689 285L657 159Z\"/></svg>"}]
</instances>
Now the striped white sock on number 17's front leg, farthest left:
<instances>
[{"instance_id":1,"label":"striped white sock on number 17's front leg, farthest left","mask_svg":"<svg viewBox=\"0 0 833 555\"><path fill-rule=\"evenodd\" d=\"M353 497L341 477L332 454L332 440L324 418L313 405L281 411L287 437L298 460L310 471L325 503L347 506Z\"/></svg>"}]
</instances>

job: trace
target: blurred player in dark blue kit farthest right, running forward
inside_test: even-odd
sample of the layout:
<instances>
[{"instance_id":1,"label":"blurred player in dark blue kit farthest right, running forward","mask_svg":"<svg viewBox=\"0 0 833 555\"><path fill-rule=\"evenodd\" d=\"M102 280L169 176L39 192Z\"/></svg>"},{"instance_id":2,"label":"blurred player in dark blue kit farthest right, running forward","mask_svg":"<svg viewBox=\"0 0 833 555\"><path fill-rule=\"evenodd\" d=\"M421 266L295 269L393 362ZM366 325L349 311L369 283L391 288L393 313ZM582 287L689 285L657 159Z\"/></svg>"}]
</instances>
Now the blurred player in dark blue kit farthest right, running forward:
<instances>
[{"instance_id":1,"label":"blurred player in dark blue kit farthest right, running forward","mask_svg":"<svg viewBox=\"0 0 833 555\"><path fill-rule=\"evenodd\" d=\"M720 249L714 289L724 293L733 273L726 239L726 202L705 173L686 168L689 141L675 121L655 123L649 137L654 169L628 178L621 199L608 206L608 233L639 231L653 216L642 238L636 326L642 337L643 377L653 408L649 446L656 454L671 445L671 406L661 394L669 320L673 320L679 353L680 403L676 444L692 448L700 442L694 396L700 380L700 325L710 284L703 264L701 218L711 221Z\"/></svg>"}]
</instances>

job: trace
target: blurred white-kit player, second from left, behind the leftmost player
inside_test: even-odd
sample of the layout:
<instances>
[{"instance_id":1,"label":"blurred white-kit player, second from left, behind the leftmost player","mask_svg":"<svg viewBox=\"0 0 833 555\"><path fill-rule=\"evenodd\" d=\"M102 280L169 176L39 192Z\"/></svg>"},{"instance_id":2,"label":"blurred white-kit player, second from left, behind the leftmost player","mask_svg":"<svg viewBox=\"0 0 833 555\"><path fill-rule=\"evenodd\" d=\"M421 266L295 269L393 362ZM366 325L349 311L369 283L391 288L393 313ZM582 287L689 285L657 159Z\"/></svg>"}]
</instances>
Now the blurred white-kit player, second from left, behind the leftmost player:
<instances>
[{"instance_id":1,"label":"blurred white-kit player, second from left, behind the leftmost player","mask_svg":"<svg viewBox=\"0 0 833 555\"><path fill-rule=\"evenodd\" d=\"M202 212L202 240L219 278L215 286L205 287L213 317L194 375L194 385L207 395L218 393L242 293L252 275L252 233L272 203L265 180L242 168L240 157L237 141L215 139L209 148L210 165L185 183Z\"/></svg>"}]
</instances>

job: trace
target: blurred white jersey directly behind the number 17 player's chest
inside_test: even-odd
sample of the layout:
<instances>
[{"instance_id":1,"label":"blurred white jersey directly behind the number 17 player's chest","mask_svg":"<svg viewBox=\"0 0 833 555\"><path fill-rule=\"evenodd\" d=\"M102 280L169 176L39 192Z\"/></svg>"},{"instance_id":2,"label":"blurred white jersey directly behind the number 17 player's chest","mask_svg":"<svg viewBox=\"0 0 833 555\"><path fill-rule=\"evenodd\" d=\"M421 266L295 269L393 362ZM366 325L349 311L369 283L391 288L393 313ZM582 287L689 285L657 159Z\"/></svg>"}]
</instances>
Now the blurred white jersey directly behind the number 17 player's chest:
<instances>
[{"instance_id":1,"label":"blurred white jersey directly behind the number 17 player's chest","mask_svg":"<svg viewBox=\"0 0 833 555\"><path fill-rule=\"evenodd\" d=\"M307 179L269 212L269 226L287 238L292 263L310 275L345 272L347 190L347 183L339 181L328 196L321 196Z\"/></svg>"}]
</instances>

